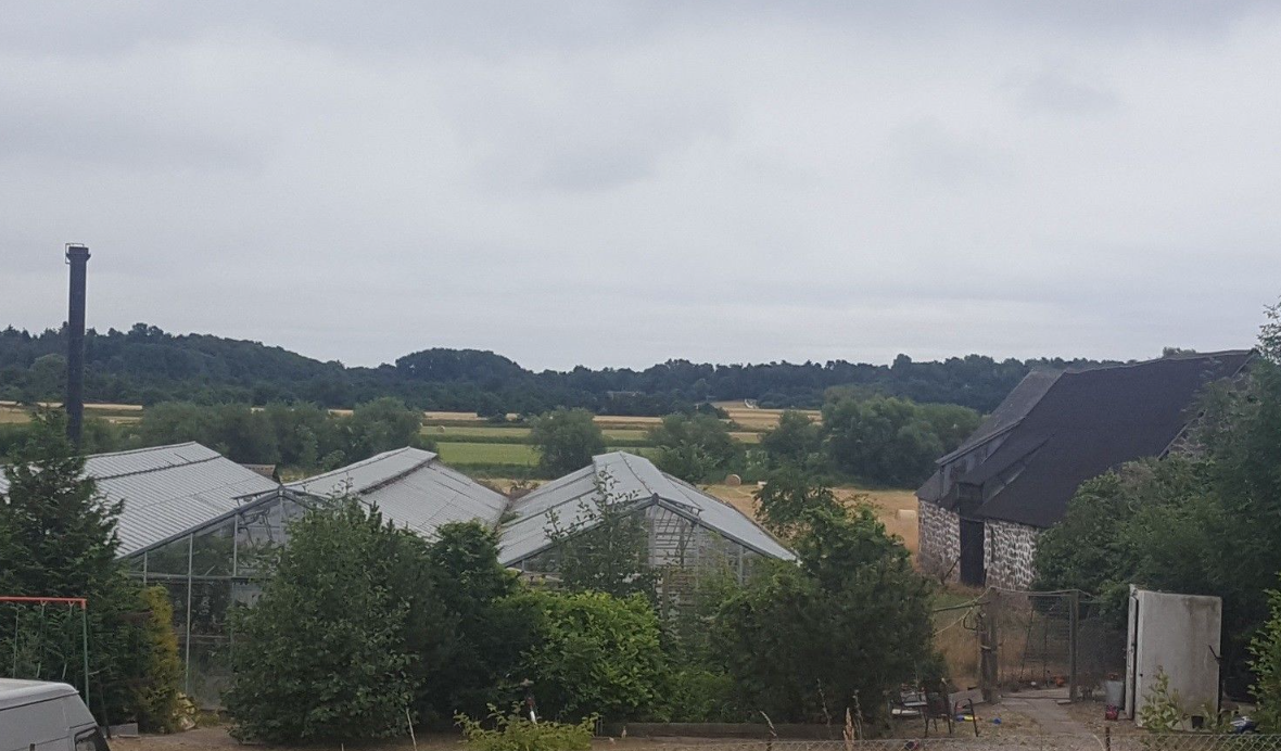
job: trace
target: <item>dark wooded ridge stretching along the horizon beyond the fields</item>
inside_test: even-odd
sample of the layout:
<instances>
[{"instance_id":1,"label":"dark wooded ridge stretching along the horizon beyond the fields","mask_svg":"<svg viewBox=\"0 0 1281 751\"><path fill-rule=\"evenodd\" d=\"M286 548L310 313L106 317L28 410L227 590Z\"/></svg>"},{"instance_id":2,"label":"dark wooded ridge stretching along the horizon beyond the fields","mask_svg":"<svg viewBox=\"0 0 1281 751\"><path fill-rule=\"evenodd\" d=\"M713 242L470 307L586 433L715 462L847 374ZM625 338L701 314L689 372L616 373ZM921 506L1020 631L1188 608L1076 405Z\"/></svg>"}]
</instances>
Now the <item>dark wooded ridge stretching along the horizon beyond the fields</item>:
<instances>
[{"instance_id":1,"label":"dark wooded ridge stretching along the horizon beyond the fields","mask_svg":"<svg viewBox=\"0 0 1281 751\"><path fill-rule=\"evenodd\" d=\"M0 400L61 399L67 337L49 329L0 332ZM428 410L542 413L582 406L601 414L661 415L703 401L757 400L765 408L816 408L833 387L906 396L921 402L959 404L990 411L1038 367L1065 368L1090 360L994 360L981 355L893 365L867 363L767 363L712 365L669 360L644 370L578 367L535 373L480 350L430 349L393 365L347 368L282 347L208 334L170 334L135 324L126 332L90 331L86 338L86 399L119 404L306 401L350 408L393 396Z\"/></svg>"}]
</instances>

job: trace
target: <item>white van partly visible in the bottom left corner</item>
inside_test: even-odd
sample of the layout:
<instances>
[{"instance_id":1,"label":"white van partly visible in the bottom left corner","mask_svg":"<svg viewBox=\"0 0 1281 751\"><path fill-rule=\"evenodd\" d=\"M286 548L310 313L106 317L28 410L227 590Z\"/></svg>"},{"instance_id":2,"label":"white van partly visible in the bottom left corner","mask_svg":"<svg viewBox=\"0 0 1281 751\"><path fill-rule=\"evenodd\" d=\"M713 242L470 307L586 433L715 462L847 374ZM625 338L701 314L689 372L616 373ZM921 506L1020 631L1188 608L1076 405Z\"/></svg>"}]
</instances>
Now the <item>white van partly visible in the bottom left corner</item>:
<instances>
[{"instance_id":1,"label":"white van partly visible in the bottom left corner","mask_svg":"<svg viewBox=\"0 0 1281 751\"><path fill-rule=\"evenodd\" d=\"M0 678L0 751L110 751L65 683Z\"/></svg>"}]
</instances>

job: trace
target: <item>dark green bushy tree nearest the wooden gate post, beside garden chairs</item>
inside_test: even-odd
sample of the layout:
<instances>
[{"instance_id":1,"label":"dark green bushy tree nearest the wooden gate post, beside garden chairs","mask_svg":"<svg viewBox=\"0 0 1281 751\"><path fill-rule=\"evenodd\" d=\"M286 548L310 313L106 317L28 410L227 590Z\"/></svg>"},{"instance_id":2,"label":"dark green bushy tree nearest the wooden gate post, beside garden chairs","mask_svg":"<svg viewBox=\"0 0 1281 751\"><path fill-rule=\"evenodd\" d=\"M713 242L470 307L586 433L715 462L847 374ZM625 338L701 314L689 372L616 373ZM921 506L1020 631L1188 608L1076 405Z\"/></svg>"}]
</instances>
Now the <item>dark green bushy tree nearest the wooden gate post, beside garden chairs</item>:
<instances>
[{"instance_id":1,"label":"dark green bushy tree nearest the wooden gate post, beside garden chairs","mask_svg":"<svg viewBox=\"0 0 1281 751\"><path fill-rule=\"evenodd\" d=\"M771 565L714 625L739 704L774 722L877 718L933 663L929 583L869 508L812 510L793 540L799 565Z\"/></svg>"}]
</instances>

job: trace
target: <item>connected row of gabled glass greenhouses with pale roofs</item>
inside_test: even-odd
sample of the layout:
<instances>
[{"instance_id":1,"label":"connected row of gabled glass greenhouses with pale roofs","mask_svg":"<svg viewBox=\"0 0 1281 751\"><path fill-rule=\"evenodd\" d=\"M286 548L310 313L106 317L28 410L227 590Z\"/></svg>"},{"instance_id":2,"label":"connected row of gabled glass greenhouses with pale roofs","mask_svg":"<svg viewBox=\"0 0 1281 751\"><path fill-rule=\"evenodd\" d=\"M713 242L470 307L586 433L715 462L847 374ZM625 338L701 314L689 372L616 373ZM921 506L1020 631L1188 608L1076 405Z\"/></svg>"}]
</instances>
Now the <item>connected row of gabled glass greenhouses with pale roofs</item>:
<instances>
[{"instance_id":1,"label":"connected row of gabled glass greenhouses with pale roofs","mask_svg":"<svg viewBox=\"0 0 1281 751\"><path fill-rule=\"evenodd\" d=\"M503 565L552 579L552 520L589 528L607 497L643 515L648 563L669 595L706 566L746 578L763 559L793 557L733 506L624 452L597 456L519 500L411 447L287 484L199 443L90 456L86 472L105 499L123 501L120 555L132 575L168 591L184 691L206 707L220 705L231 677L231 610L257 598L264 563L288 542L290 522L334 496L359 496L429 540L442 524L480 522L498 532Z\"/></svg>"}]
</instances>

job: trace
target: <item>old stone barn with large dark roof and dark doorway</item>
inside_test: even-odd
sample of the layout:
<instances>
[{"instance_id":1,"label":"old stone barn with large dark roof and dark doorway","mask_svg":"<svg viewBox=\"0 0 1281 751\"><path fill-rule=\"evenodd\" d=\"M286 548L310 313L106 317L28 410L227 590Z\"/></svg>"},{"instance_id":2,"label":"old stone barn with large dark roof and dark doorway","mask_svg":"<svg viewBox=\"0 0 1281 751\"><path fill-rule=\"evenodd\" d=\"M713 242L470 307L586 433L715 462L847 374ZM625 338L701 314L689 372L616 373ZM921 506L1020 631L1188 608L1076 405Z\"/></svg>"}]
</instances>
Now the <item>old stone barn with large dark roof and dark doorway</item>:
<instances>
[{"instance_id":1,"label":"old stone barn with large dark roof and dark doorway","mask_svg":"<svg viewBox=\"0 0 1281 751\"><path fill-rule=\"evenodd\" d=\"M1250 350L1082 370L1034 370L916 491L920 563L971 586L1026 590L1040 533L1076 488L1126 461L1185 446L1199 395Z\"/></svg>"}]
</instances>

